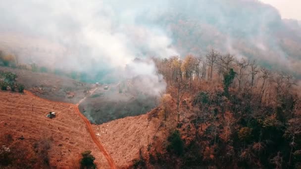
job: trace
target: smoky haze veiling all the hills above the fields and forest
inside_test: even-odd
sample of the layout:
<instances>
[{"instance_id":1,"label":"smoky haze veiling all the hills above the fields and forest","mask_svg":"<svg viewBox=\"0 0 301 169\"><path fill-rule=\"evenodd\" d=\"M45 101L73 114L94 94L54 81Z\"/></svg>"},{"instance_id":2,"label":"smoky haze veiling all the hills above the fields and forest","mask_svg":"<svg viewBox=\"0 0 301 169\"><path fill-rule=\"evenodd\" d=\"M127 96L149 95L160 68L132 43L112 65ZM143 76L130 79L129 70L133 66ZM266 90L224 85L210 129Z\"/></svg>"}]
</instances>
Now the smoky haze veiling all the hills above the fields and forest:
<instances>
[{"instance_id":1,"label":"smoky haze veiling all the hills above the fields and forest","mask_svg":"<svg viewBox=\"0 0 301 169\"><path fill-rule=\"evenodd\" d=\"M1 5L0 46L23 62L93 74L123 69L135 57L204 55L214 47L301 75L300 24L257 0L29 0L9 9L14 3Z\"/></svg>"}]
</instances>

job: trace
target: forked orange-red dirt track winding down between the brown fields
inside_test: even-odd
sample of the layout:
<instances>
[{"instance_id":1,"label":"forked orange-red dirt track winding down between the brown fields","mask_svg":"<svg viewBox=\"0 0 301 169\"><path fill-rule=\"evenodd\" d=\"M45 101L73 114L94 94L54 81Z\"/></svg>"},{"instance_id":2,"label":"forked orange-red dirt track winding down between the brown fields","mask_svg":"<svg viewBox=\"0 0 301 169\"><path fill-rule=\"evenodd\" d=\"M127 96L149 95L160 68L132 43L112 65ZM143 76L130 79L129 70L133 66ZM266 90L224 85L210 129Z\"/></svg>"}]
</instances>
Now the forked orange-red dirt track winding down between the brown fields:
<instances>
[{"instance_id":1,"label":"forked orange-red dirt track winding down between the brown fields","mask_svg":"<svg viewBox=\"0 0 301 169\"><path fill-rule=\"evenodd\" d=\"M95 91L95 90L94 90L94 91ZM91 123L90 123L89 120L88 120L83 114L81 114L81 112L79 111L79 109L78 109L79 103L77 103L77 104L71 104L71 103L64 103L64 102L51 101L51 100L47 100L47 99L38 97L38 96L34 95L32 92L30 92L30 91L28 91L28 90L24 90L24 92L25 92L26 94L29 94L29 95L31 95L31 96L33 96L33 97L36 97L36 98L39 98L39 99L42 99L42 100L45 100L45 101L47 101L47 102L52 102L52 103L56 103L56 104L65 104L65 105L69 105L69 106L74 107L75 112L76 112L76 113L84 120L84 122L86 123L87 129L88 129L88 131L89 131L89 133L90 133L90 135L91 135L91 137L92 137L94 143L97 145L97 147L100 149L100 151L102 152L102 154L103 154L104 157L106 158L106 160L107 160L109 166L111 167L111 169L116 169L115 164L114 164L114 162L113 162L111 156L110 156L109 153L106 151L106 149L102 146L102 144L100 143L99 139L96 137L95 132L94 132L94 130L93 130L93 128L92 128ZM92 92L92 93L93 93L93 92ZM84 98L84 99L85 99L85 98ZM83 101L84 99L82 99L81 101ZM81 102L81 101L80 101L80 102Z\"/></svg>"}]
</instances>

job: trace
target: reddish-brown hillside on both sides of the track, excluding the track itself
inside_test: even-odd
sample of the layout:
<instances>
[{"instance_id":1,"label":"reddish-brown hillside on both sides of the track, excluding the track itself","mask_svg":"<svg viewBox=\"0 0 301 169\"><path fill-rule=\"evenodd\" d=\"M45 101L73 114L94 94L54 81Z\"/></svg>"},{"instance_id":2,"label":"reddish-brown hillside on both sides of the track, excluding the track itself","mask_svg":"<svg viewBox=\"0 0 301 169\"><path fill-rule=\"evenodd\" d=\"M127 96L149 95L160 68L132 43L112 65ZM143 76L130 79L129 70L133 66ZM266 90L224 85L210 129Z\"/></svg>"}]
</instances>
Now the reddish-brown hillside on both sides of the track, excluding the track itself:
<instances>
[{"instance_id":1,"label":"reddish-brown hillside on both sides of the track, excluding the track itself","mask_svg":"<svg viewBox=\"0 0 301 169\"><path fill-rule=\"evenodd\" d=\"M73 106L39 99L29 93L0 91L0 98L0 144L11 149L10 157L19 159L17 164L21 167L40 168L49 164L58 169L76 169L80 153L91 150L98 167L109 168ZM56 112L56 117L47 118L49 111ZM146 152L158 125L158 119L147 114L93 127L117 168L128 168L139 158L140 149ZM44 154L39 146L48 147ZM22 154L19 150L23 151ZM47 163L41 159L47 159Z\"/></svg>"}]
</instances>

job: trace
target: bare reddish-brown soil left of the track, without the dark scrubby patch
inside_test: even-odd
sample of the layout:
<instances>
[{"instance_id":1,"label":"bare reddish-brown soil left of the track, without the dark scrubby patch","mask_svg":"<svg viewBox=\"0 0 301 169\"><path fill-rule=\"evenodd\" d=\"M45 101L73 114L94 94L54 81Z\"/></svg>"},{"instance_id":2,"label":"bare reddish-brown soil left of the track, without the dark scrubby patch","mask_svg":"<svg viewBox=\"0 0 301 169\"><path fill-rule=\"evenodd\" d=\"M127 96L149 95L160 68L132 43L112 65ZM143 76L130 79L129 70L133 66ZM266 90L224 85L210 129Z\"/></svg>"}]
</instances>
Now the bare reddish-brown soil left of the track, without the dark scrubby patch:
<instances>
[{"instance_id":1,"label":"bare reddish-brown soil left of the track, without the dark scrubby patch","mask_svg":"<svg viewBox=\"0 0 301 169\"><path fill-rule=\"evenodd\" d=\"M0 102L1 137L10 133L15 142L23 135L24 140L20 141L28 147L33 147L43 138L51 137L50 165L58 169L74 165L74 159L85 150L92 151L99 168L110 168L87 132L91 128L83 123L83 117L79 116L75 105L50 102L31 94L9 91L0 91ZM47 118L49 111L56 112L56 117Z\"/></svg>"}]
</instances>

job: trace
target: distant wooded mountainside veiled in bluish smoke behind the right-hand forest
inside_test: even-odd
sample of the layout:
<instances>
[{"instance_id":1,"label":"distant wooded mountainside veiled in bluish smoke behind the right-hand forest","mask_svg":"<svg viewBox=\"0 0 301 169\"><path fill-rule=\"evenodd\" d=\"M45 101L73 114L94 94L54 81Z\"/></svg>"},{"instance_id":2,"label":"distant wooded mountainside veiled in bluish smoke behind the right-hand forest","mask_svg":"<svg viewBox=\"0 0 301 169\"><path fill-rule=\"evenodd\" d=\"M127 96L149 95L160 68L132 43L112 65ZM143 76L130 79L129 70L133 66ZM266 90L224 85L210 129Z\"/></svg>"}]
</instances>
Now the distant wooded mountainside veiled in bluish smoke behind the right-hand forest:
<instances>
[{"instance_id":1,"label":"distant wooded mountainside veiled in bluish smoke behind the right-hand forest","mask_svg":"<svg viewBox=\"0 0 301 169\"><path fill-rule=\"evenodd\" d=\"M168 30L182 56L205 55L214 47L301 76L300 24L258 0L171 2L153 22Z\"/></svg>"}]
</instances>

